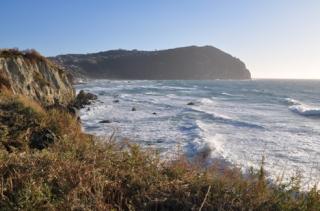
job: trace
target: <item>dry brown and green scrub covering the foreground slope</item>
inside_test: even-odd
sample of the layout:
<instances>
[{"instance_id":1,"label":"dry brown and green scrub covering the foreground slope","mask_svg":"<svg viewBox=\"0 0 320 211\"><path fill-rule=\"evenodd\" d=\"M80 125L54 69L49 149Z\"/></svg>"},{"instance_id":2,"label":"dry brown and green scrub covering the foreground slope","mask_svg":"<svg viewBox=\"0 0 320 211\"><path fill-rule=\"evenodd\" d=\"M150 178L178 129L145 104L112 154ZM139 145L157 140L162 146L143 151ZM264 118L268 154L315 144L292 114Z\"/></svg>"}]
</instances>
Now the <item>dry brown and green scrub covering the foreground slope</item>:
<instances>
[{"instance_id":1,"label":"dry brown and green scrub covering the foreground slope","mask_svg":"<svg viewBox=\"0 0 320 211\"><path fill-rule=\"evenodd\" d=\"M51 131L41 149L32 134ZM264 171L200 167L183 156L101 141L69 113L2 92L0 210L319 210L320 192L292 180L272 185ZM43 139L47 140L47 139Z\"/></svg>"}]
</instances>

